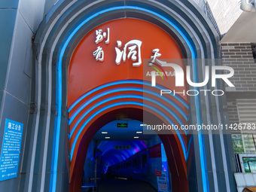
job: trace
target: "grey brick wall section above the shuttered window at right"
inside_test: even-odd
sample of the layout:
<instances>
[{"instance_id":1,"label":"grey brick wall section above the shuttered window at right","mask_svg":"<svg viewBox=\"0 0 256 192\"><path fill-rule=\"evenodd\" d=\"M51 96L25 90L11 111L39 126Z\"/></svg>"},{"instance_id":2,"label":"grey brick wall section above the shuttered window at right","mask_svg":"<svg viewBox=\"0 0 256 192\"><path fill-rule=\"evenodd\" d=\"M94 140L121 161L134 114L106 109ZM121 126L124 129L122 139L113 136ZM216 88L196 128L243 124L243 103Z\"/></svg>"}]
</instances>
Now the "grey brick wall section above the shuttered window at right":
<instances>
[{"instance_id":1,"label":"grey brick wall section above the shuttered window at right","mask_svg":"<svg viewBox=\"0 0 256 192\"><path fill-rule=\"evenodd\" d=\"M251 44L228 43L221 44L222 64L234 69L235 74L230 81L235 87L228 87L226 91L256 91L256 63L252 56Z\"/></svg>"}]
</instances>

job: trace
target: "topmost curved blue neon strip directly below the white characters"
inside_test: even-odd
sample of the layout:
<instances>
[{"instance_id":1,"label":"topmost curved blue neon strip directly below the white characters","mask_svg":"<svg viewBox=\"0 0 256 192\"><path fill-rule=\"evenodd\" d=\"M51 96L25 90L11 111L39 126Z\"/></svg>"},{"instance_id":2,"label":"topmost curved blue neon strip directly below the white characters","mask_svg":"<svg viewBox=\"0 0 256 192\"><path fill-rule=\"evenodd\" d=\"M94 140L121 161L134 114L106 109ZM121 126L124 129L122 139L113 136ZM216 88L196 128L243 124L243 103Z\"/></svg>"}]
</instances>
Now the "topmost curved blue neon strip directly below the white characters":
<instances>
[{"instance_id":1,"label":"topmost curved blue neon strip directly below the white characters","mask_svg":"<svg viewBox=\"0 0 256 192\"><path fill-rule=\"evenodd\" d=\"M147 85L149 87L151 87L151 83L148 83L147 81L142 81L142 80L120 80L120 81L114 81L108 84L103 84L99 87L94 88L93 90L88 91L87 93L85 93L83 96L79 97L74 103L72 103L72 105L69 107L68 112L70 112L75 105L78 105L79 102L81 102L81 100L83 100L84 98L86 98L87 96L90 96L90 94L95 93L98 90L101 90L105 87L111 87L113 85L118 85L118 84L140 84L140 85ZM158 90L166 90L166 87L162 87L160 85L157 84L156 88ZM178 95L173 95L172 93L169 94L170 96L173 96L175 99L177 99L179 102L181 102L182 105L184 105L187 109L189 108L189 105L187 104L187 102ZM167 97L166 97L167 98Z\"/></svg>"}]
</instances>

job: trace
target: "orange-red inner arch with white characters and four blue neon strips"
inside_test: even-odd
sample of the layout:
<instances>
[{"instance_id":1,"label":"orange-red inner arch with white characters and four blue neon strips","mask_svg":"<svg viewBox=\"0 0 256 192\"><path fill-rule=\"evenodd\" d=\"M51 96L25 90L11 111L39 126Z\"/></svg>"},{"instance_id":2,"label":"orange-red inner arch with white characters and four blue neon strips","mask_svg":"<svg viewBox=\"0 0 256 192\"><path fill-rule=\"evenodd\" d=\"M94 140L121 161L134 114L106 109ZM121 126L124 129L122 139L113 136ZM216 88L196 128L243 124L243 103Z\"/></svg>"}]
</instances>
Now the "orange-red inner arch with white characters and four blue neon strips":
<instances>
[{"instance_id":1,"label":"orange-red inner arch with white characters and four blue neon strips","mask_svg":"<svg viewBox=\"0 0 256 192\"><path fill-rule=\"evenodd\" d=\"M87 150L102 126L122 117L152 125L187 124L188 96L160 95L163 89L187 90L187 85L175 87L169 83L175 81L175 71L163 71L162 66L154 62L160 56L175 61L184 58L180 47L166 31L153 23L132 18L97 26L75 47L68 73L69 191L81 190ZM177 62L176 66L185 71L183 62ZM158 72L156 87L151 84L152 71ZM166 80L168 75L169 81L163 80L162 73ZM187 133L171 130L159 138L172 173L172 191L188 191Z\"/></svg>"}]
</instances>

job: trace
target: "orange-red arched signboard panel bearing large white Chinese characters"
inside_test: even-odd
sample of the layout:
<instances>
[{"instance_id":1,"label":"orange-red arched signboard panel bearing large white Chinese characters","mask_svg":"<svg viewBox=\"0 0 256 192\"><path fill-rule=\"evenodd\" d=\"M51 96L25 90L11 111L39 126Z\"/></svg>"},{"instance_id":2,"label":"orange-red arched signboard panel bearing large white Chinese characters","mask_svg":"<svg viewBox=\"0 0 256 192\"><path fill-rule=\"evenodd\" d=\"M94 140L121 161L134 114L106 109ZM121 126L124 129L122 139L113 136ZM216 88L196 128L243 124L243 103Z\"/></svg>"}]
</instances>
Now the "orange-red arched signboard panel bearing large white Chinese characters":
<instances>
[{"instance_id":1,"label":"orange-red arched signboard panel bearing large white Chinese characters","mask_svg":"<svg viewBox=\"0 0 256 192\"><path fill-rule=\"evenodd\" d=\"M101 32L102 41L96 42L97 32L98 34ZM105 42L107 40L109 40L108 43ZM117 65L117 51L124 50L125 44L133 40L142 42L140 47L142 64L133 66L134 63L139 62L138 46L135 49L137 51L135 61L132 59L133 56L128 58L129 48L132 46L127 46L125 61L122 56L120 64ZM117 46L117 41L121 43L120 47ZM100 61L99 53L98 60L93 56L93 53L100 50L98 47L104 53L103 61ZM160 59L183 59L175 40L160 27L144 20L112 20L91 30L72 54L69 65L68 107L88 90L101 84L123 79L143 80L143 67L148 67L148 63L143 63L143 59L151 59L155 49L159 49ZM170 78L174 79L174 77ZM170 85L168 87L172 88Z\"/></svg>"}]
</instances>

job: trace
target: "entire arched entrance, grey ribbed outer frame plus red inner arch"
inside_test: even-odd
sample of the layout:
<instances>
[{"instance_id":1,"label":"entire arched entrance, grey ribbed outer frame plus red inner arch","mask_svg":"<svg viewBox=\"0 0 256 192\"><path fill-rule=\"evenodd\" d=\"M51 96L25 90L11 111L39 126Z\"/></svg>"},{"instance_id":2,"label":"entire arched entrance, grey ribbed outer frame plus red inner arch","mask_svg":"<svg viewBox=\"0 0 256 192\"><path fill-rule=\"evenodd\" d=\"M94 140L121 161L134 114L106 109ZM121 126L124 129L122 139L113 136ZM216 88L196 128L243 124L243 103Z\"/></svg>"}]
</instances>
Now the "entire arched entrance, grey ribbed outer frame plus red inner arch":
<instances>
[{"instance_id":1,"label":"entire arched entrance, grey ribbed outer frame plus red inner arch","mask_svg":"<svg viewBox=\"0 0 256 192\"><path fill-rule=\"evenodd\" d=\"M185 65L171 63L178 64L184 74L189 66L191 81L203 82L204 68L218 64L218 35L212 29L190 1L56 3L41 22L33 44L31 111L36 112L31 115L35 134L28 191L34 186L41 191L81 191L90 142L102 126L123 119L118 114L142 123L156 120L152 124L176 126L226 122L225 116L219 117L223 114L220 98L212 99L210 92L185 95L191 88L184 83L186 78L177 80L172 67L163 70L163 62L157 61L191 59ZM211 60L205 62L206 58ZM175 87L177 81L184 87ZM178 94L161 95L161 90ZM224 182L229 187L233 175L227 175L229 168L219 165L215 155L221 149L223 162L227 159L223 137L171 133L157 134L168 158L173 191L217 191ZM39 136L44 143L40 153ZM37 163L37 157L43 157L42 162ZM33 179L34 166L41 172L39 185ZM225 174L221 175L225 179L218 181L217 173Z\"/></svg>"}]
</instances>

